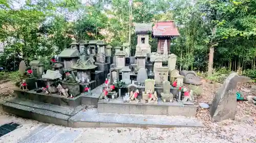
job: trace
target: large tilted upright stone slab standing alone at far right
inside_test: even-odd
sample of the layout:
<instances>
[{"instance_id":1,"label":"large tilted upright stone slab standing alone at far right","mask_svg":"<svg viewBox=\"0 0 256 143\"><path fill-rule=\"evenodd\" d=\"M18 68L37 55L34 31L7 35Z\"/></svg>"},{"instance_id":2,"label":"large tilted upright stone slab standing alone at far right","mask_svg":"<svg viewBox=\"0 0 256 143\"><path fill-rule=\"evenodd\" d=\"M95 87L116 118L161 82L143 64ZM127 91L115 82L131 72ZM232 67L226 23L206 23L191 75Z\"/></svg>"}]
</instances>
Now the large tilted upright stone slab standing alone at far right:
<instances>
[{"instance_id":1,"label":"large tilted upright stone slab standing alone at far right","mask_svg":"<svg viewBox=\"0 0 256 143\"><path fill-rule=\"evenodd\" d=\"M234 120L237 108L237 83L248 82L249 80L249 77L239 76L238 73L231 73L226 78L212 101L212 106L210 108L212 121L219 122L226 119Z\"/></svg>"}]
</instances>

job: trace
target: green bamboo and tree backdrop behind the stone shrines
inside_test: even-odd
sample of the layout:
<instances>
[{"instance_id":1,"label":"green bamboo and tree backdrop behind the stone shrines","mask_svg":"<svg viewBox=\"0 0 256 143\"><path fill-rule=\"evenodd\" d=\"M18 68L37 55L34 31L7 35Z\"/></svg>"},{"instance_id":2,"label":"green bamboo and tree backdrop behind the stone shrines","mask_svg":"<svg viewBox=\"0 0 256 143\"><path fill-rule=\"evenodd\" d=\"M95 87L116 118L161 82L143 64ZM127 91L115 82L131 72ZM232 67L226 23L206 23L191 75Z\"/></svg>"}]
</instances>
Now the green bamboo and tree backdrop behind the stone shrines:
<instances>
[{"instance_id":1,"label":"green bamboo and tree backdrop behind the stone shrines","mask_svg":"<svg viewBox=\"0 0 256 143\"><path fill-rule=\"evenodd\" d=\"M16 2L15 2L16 3ZM48 60L73 40L105 40L112 47L129 43L135 52L136 23L174 20L180 36L171 41L179 69L255 70L256 0L36 0L14 8L0 0L0 64L7 71L18 63ZM152 51L157 41L150 38Z\"/></svg>"}]
</instances>

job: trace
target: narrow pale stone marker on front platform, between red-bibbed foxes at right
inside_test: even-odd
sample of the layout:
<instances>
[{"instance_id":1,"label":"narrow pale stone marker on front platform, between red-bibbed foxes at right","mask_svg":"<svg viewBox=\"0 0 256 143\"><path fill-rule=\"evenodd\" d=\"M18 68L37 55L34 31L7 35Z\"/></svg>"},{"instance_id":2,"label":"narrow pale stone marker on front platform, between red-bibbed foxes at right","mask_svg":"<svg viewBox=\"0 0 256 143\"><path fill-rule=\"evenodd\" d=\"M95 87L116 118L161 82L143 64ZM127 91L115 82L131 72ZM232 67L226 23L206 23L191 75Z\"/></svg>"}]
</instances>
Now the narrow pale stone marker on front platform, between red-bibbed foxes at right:
<instances>
[{"instance_id":1,"label":"narrow pale stone marker on front platform, between red-bibbed foxes at right","mask_svg":"<svg viewBox=\"0 0 256 143\"><path fill-rule=\"evenodd\" d=\"M161 99L163 102L169 101L173 102L174 95L170 93L170 82L165 80L163 81L163 93L160 93Z\"/></svg>"}]
</instances>

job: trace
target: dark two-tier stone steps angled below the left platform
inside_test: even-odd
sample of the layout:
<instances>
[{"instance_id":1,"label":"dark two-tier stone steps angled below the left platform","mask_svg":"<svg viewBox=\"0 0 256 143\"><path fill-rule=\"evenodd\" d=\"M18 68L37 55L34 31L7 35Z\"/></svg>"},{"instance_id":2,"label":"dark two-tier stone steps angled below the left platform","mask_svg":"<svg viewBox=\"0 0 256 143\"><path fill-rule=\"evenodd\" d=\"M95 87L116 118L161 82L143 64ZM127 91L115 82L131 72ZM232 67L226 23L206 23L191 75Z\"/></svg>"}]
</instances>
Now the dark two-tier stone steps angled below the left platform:
<instances>
[{"instance_id":1,"label":"dark two-tier stone steps angled below the left platform","mask_svg":"<svg viewBox=\"0 0 256 143\"><path fill-rule=\"evenodd\" d=\"M13 115L44 123L68 126L68 120L83 107L63 107L14 98L3 104L3 110Z\"/></svg>"}]
</instances>

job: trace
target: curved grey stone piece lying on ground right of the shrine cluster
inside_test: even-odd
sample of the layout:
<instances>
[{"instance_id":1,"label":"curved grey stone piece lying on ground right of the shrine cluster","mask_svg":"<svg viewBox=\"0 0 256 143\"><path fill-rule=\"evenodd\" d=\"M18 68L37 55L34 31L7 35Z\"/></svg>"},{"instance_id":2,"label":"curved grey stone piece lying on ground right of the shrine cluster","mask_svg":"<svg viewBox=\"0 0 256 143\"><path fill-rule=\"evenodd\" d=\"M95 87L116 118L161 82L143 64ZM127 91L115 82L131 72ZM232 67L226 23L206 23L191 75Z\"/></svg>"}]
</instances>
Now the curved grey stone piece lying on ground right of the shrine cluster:
<instances>
[{"instance_id":1,"label":"curved grey stone piece lying on ground right of the shrine cluster","mask_svg":"<svg viewBox=\"0 0 256 143\"><path fill-rule=\"evenodd\" d=\"M197 76L195 71L180 71L180 75L184 76L183 82L186 84L201 85L201 79Z\"/></svg>"}]
</instances>

